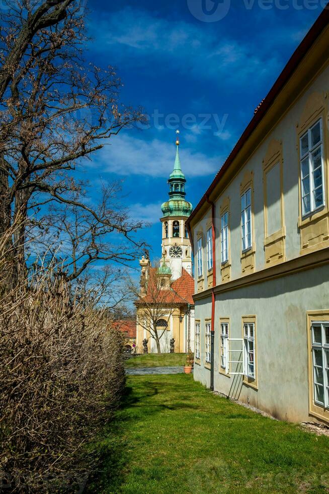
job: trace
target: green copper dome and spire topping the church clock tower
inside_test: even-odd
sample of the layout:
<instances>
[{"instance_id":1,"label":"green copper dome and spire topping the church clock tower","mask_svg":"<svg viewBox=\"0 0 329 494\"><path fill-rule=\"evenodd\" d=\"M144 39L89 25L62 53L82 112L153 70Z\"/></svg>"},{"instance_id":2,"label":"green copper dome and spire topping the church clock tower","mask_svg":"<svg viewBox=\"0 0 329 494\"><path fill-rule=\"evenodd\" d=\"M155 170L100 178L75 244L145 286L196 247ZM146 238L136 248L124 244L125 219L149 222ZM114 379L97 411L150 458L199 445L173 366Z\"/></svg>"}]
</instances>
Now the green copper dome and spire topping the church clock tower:
<instances>
[{"instance_id":1,"label":"green copper dome and spire topping the church clock tower","mask_svg":"<svg viewBox=\"0 0 329 494\"><path fill-rule=\"evenodd\" d=\"M177 139L177 151L173 172L169 175L170 200L163 203L161 210L163 216L190 216L193 207L192 204L185 200L185 183L186 178L181 168L181 162L178 152L179 140Z\"/></svg>"}]
</instances>

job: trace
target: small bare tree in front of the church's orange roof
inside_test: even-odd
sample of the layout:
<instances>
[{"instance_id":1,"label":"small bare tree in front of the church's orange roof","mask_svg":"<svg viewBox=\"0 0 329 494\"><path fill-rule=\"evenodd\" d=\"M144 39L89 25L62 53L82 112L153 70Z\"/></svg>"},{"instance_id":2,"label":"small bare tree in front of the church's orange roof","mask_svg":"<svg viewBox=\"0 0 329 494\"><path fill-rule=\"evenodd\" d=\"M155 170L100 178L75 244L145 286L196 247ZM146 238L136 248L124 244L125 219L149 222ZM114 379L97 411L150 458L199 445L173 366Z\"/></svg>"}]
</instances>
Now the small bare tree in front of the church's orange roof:
<instances>
[{"instance_id":1,"label":"small bare tree in front of the church's orange roof","mask_svg":"<svg viewBox=\"0 0 329 494\"><path fill-rule=\"evenodd\" d=\"M167 331L171 316L177 310L183 315L188 305L178 293L182 283L181 278L172 283L170 272L166 274L164 271L163 274L159 266L149 268L147 278L141 279L140 285L130 282L138 325L155 341L157 353L161 352L160 340Z\"/></svg>"}]
</instances>

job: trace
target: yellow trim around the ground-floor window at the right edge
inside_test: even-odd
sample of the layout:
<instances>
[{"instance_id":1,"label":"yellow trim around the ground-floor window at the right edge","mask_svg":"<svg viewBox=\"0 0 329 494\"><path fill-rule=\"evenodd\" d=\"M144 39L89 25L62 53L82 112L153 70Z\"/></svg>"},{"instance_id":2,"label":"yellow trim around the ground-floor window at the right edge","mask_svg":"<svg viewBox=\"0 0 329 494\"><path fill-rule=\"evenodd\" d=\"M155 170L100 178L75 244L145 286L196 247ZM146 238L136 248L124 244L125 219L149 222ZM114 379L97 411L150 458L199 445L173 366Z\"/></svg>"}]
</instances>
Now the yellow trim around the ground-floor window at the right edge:
<instances>
[{"instance_id":1,"label":"yellow trim around the ground-floor window at the right edge","mask_svg":"<svg viewBox=\"0 0 329 494\"><path fill-rule=\"evenodd\" d=\"M309 414L320 418L324 422L329 422L329 410L316 405L314 403L314 386L313 386L313 362L312 362L312 341L311 341L311 326L312 322L329 321L329 309L323 311L307 311L306 312L306 327L307 327L307 364L308 364L308 408Z\"/></svg>"}]
</instances>

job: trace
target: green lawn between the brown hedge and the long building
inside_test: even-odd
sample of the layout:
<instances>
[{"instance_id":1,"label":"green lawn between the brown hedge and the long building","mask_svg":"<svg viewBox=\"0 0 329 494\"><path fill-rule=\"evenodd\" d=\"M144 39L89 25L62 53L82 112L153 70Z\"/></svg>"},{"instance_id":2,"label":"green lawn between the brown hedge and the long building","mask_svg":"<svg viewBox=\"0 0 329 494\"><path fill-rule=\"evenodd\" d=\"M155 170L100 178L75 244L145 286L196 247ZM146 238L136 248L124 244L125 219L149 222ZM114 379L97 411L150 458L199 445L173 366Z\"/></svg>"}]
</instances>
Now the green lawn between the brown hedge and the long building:
<instances>
[{"instance_id":1,"label":"green lawn between the brown hedge and the long building","mask_svg":"<svg viewBox=\"0 0 329 494\"><path fill-rule=\"evenodd\" d=\"M215 396L188 375L131 376L89 493L329 492L329 438Z\"/></svg>"}]
</instances>

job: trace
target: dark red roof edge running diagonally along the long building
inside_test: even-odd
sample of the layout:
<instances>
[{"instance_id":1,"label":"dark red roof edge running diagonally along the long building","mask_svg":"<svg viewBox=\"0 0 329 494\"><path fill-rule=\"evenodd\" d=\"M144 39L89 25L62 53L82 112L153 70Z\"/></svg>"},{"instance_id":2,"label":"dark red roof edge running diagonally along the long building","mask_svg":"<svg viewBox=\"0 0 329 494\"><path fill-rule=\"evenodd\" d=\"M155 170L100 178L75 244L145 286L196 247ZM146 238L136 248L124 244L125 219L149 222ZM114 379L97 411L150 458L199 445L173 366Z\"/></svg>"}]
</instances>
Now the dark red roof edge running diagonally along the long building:
<instances>
[{"instance_id":1,"label":"dark red roof edge running diagonally along the long building","mask_svg":"<svg viewBox=\"0 0 329 494\"><path fill-rule=\"evenodd\" d=\"M296 48L296 50L288 60L287 65L281 72L280 76L278 77L278 79L270 89L265 99L262 101L262 104L257 109L254 117L252 118L246 129L244 130L240 139L235 144L233 150L229 154L223 166L217 172L215 178L211 182L206 193L203 195L198 205L193 210L191 216L187 219L186 223L188 225L190 225L191 220L195 217L197 212L200 210L201 206L205 203L206 198L207 197L209 198L209 195L212 193L212 191L216 187L217 183L219 182L219 180L221 179L227 168L230 166L230 164L233 162L239 151L242 149L244 143L252 135L252 133L254 132L260 121L263 119L270 106L272 105L273 101L282 90L283 86L290 79L295 69L298 67L301 60L304 58L306 52L311 48L313 43L316 41L316 39L319 37L319 35L321 34L321 32L327 26L328 23L329 23L329 5L324 7L323 11L316 19L313 26L310 28L304 39L301 41L301 43L298 45L298 47Z\"/></svg>"}]
</instances>

